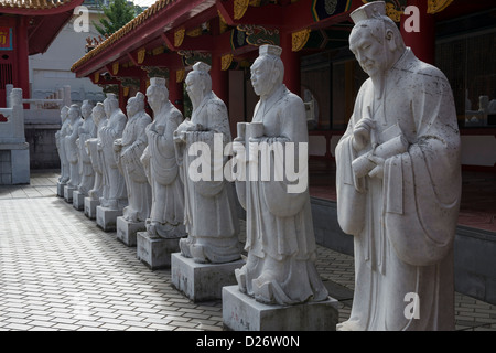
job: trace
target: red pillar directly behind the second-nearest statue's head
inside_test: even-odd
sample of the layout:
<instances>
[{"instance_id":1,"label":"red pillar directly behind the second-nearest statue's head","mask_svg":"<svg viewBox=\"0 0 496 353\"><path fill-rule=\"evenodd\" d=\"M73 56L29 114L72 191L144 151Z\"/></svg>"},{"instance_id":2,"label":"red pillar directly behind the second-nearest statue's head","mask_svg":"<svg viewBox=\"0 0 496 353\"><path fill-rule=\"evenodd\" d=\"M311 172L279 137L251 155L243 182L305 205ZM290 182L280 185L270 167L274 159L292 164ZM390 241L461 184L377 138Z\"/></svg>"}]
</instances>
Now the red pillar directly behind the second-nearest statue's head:
<instances>
[{"instance_id":1,"label":"red pillar directly behind the second-nearest statue's head","mask_svg":"<svg viewBox=\"0 0 496 353\"><path fill-rule=\"evenodd\" d=\"M292 50L292 36L290 32L281 31L280 45L282 47L281 60L284 64L283 83L289 90L301 96L300 54Z\"/></svg>"}]
</instances>

